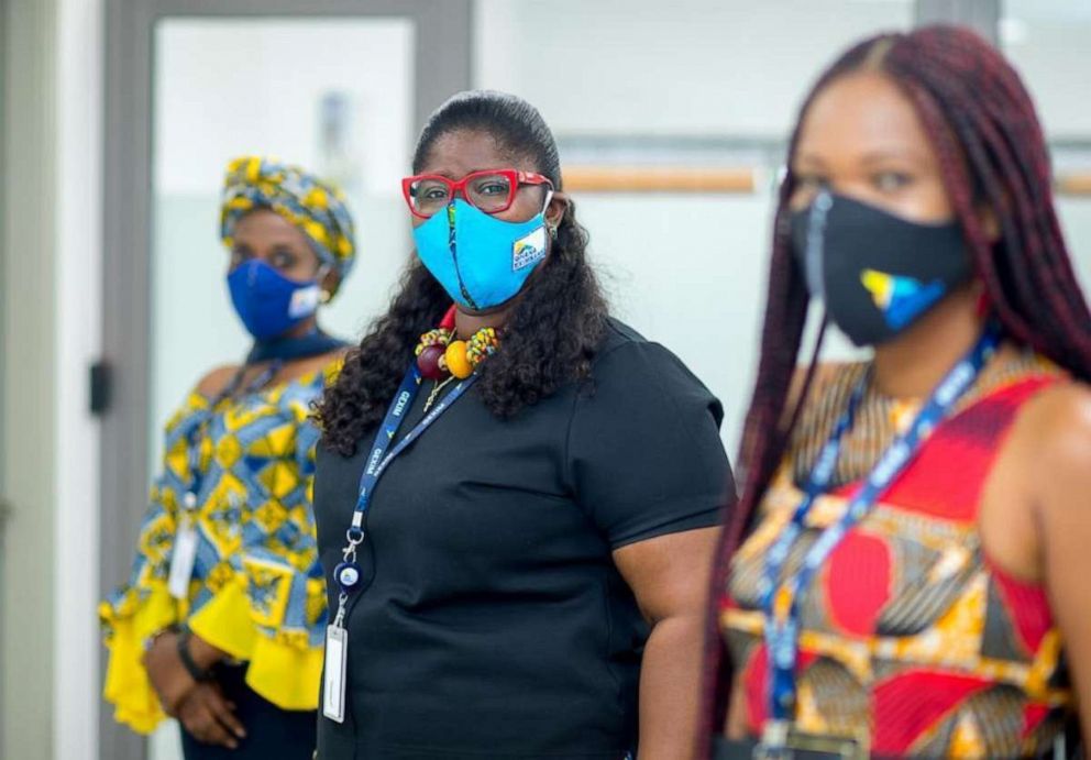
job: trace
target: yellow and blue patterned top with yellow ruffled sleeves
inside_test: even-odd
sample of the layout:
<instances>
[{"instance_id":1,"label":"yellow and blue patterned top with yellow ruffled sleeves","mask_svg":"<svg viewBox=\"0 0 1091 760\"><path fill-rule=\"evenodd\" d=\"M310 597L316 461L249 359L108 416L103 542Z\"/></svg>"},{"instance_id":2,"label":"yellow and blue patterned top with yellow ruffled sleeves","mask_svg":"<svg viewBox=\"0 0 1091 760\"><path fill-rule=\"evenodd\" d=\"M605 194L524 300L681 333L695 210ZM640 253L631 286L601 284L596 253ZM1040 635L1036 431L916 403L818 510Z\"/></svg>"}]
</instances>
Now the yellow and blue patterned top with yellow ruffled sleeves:
<instances>
[{"instance_id":1,"label":"yellow and blue patterned top with yellow ruffled sleeves","mask_svg":"<svg viewBox=\"0 0 1091 760\"><path fill-rule=\"evenodd\" d=\"M246 682L269 702L317 707L327 608L311 511L319 432L309 416L339 365L235 398L195 390L167 422L132 574L99 609L110 650L104 696L119 722L148 733L163 719L143 642L178 623L246 661ZM188 598L176 599L170 558L195 481L197 557Z\"/></svg>"}]
</instances>

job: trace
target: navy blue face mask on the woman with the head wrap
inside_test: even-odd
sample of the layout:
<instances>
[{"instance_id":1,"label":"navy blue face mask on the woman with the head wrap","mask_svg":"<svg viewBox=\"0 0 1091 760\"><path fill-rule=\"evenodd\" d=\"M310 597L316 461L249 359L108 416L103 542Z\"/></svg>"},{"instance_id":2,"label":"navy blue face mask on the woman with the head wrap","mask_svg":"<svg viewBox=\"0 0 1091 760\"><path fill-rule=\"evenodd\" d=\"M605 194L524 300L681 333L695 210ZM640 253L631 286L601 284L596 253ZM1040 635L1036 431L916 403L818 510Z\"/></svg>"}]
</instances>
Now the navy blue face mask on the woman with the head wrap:
<instances>
[{"instance_id":1,"label":"navy blue face mask on the woman with the head wrap","mask_svg":"<svg viewBox=\"0 0 1091 760\"><path fill-rule=\"evenodd\" d=\"M257 340L283 335L318 310L317 279L288 279L263 261L251 258L228 275L231 302Z\"/></svg>"}]
</instances>

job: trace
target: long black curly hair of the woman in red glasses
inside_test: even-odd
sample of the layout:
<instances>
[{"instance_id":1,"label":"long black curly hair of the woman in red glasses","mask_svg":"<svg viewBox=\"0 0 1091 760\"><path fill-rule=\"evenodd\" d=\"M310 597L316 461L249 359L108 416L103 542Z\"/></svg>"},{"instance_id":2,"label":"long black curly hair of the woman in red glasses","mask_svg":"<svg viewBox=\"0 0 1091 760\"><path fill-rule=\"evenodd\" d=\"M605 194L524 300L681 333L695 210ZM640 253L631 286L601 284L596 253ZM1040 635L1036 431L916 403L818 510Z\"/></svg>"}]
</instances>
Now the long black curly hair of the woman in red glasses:
<instances>
[{"instance_id":1,"label":"long black curly hair of the woman in red glasses","mask_svg":"<svg viewBox=\"0 0 1091 760\"><path fill-rule=\"evenodd\" d=\"M461 131L487 134L562 189L556 142L541 114L520 98L488 90L460 92L432 113L417 141L414 172L427 163L437 140ZM475 392L493 414L510 417L565 383L588 376L608 309L586 249L587 231L569 201L549 257L504 326L500 350L480 371ZM450 296L414 257L390 308L349 352L317 406L326 448L344 456L355 452L365 431L386 412L421 333L436 327L450 306Z\"/></svg>"}]
</instances>

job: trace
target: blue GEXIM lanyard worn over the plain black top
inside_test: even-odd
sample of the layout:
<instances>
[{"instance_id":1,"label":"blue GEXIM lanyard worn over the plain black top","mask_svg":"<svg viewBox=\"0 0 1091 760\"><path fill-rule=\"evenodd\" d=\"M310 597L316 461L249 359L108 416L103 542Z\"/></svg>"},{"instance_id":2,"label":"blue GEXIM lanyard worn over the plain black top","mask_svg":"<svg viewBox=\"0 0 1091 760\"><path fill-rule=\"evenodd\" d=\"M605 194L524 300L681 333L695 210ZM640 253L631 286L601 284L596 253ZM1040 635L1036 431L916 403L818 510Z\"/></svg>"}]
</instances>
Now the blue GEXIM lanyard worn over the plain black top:
<instances>
[{"instance_id":1,"label":"blue GEXIM lanyard worn over the plain black top","mask_svg":"<svg viewBox=\"0 0 1091 760\"><path fill-rule=\"evenodd\" d=\"M397 394L394 396L394 400L390 401L390 408L386 411L386 418L383 420L383 425L379 426L378 432L375 433L375 442L372 444L371 454L367 456L367 463L364 465L364 472L360 476L360 495L356 497L356 508L352 513L352 525L349 526L349 530L345 531L345 539L348 543L342 550L343 560L333 570L333 577L341 588L341 594L338 599L338 614L334 619L333 625L341 627L344 623L345 615L345 603L349 601L349 594L360 583L360 566L356 564L356 547L359 547L364 540L364 517L367 515L367 508L371 506L372 494L375 493L375 486L378 484L378 480L386 472L387 466L390 462L397 459L398 454L412 445L414 441L420 438L432 423L440 418L444 411L451 408L451 406L459 400L463 394L469 390L474 383L477 382L477 374L470 375L465 379L461 381L456 386L454 386L451 392L444 396L440 401L432 407L425 417L414 426L412 430L406 433L396 447L390 449L390 442L398 432L398 428L401 427L403 419L407 411L412 407L414 400L417 398L417 394L420 393L421 374L420 370L417 367L417 363L414 362L409 372L406 373L405 378L401 381L400 387L398 387Z\"/></svg>"}]
</instances>

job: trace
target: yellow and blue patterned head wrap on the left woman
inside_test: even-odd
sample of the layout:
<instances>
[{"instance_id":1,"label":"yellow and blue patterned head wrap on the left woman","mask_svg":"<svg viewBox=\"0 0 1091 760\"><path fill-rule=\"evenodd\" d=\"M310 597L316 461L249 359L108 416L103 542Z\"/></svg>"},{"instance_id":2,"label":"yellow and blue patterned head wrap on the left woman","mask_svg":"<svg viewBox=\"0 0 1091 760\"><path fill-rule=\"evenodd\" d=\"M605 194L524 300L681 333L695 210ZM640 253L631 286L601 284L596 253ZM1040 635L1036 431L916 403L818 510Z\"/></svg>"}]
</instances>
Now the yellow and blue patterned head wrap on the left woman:
<instances>
[{"instance_id":1,"label":"yellow and blue patterned head wrap on the left woman","mask_svg":"<svg viewBox=\"0 0 1091 760\"><path fill-rule=\"evenodd\" d=\"M228 164L220 207L220 238L233 244L235 224L250 211L267 208L307 235L323 264L344 279L356 257L352 217L344 196L297 166L261 156L243 156Z\"/></svg>"}]
</instances>

